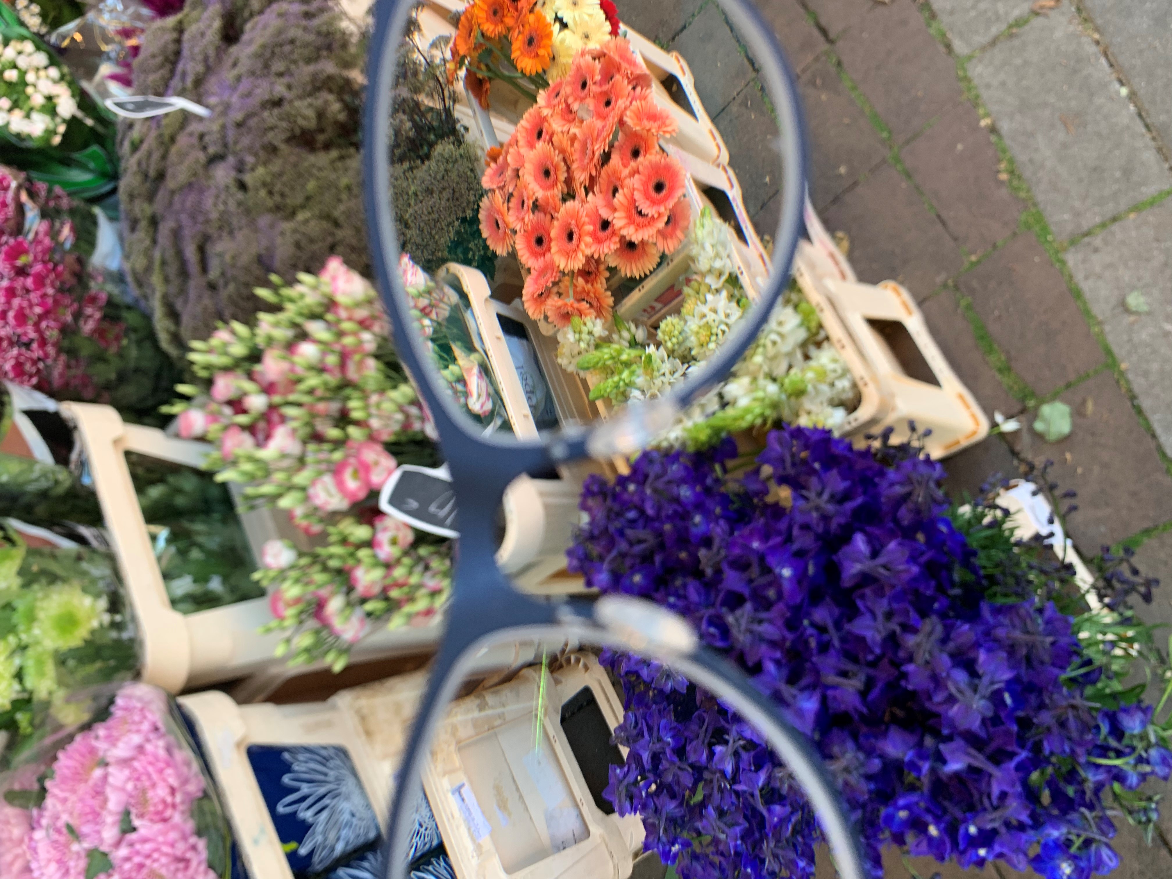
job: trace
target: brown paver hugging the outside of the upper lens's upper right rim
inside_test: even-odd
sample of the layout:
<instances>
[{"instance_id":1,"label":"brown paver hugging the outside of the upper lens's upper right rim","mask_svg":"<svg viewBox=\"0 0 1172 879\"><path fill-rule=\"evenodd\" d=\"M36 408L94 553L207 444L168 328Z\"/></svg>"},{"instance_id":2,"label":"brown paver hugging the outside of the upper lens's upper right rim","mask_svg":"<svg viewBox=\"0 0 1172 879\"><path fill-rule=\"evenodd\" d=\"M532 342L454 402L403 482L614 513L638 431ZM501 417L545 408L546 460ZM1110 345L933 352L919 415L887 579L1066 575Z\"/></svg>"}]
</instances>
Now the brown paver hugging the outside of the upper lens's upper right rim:
<instances>
[{"instance_id":1,"label":"brown paver hugging the outside of the upper lens's upper right rim","mask_svg":"<svg viewBox=\"0 0 1172 879\"><path fill-rule=\"evenodd\" d=\"M810 197L820 210L883 162L887 148L825 59L802 74L798 93L810 128Z\"/></svg>"}]
</instances>

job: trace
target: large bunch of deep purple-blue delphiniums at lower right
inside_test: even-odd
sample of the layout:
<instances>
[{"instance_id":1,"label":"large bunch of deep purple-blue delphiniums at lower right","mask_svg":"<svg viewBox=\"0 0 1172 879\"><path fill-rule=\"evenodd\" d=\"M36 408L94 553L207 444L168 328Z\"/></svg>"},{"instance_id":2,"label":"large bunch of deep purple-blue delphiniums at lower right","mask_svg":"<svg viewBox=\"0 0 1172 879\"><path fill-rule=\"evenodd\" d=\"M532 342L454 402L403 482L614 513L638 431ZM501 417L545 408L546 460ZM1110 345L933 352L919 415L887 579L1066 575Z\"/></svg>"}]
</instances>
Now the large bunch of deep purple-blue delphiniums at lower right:
<instances>
[{"instance_id":1,"label":"large bunch of deep purple-blue delphiniums at lower right","mask_svg":"<svg viewBox=\"0 0 1172 879\"><path fill-rule=\"evenodd\" d=\"M823 430L769 435L736 479L732 443L646 452L587 482L571 570L691 620L808 734L858 823L883 845L1003 860L1048 879L1118 864L1106 798L1172 759L1150 711L1085 697L1071 619L1037 597L986 598L948 518L943 471L888 465ZM813 874L813 816L759 737L662 667L612 657L629 749L607 796L683 879Z\"/></svg>"}]
</instances>

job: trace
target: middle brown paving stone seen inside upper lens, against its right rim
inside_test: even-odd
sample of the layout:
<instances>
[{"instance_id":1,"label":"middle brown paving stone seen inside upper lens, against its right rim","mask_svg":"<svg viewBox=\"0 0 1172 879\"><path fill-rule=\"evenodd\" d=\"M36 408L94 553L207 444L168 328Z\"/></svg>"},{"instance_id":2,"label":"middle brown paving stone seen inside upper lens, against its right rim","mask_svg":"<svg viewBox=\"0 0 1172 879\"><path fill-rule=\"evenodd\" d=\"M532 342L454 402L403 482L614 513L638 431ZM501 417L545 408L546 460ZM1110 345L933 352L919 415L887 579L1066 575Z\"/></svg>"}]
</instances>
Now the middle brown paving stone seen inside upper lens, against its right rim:
<instances>
[{"instance_id":1,"label":"middle brown paving stone seen inside upper lens, against its right rim","mask_svg":"<svg viewBox=\"0 0 1172 879\"><path fill-rule=\"evenodd\" d=\"M754 216L781 189L782 165L775 144L777 122L757 81L741 90L713 120L729 148L729 164L741 182L745 210Z\"/></svg>"}]
</instances>

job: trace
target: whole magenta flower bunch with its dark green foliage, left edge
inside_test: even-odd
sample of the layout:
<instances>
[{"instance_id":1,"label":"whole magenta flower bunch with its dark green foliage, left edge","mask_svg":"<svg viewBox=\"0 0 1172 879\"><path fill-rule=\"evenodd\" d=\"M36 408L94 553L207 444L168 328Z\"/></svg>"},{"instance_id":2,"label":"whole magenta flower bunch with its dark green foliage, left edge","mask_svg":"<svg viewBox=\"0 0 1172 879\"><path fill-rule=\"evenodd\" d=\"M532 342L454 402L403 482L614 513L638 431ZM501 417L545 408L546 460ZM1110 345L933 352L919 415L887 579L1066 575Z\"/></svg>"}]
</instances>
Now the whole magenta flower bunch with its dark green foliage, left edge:
<instances>
[{"instance_id":1,"label":"whole magenta flower bunch with its dark green foliage, left edge","mask_svg":"<svg viewBox=\"0 0 1172 879\"><path fill-rule=\"evenodd\" d=\"M89 266L94 226L88 206L0 166L0 379L149 420L177 373L117 273Z\"/></svg>"}]
</instances>

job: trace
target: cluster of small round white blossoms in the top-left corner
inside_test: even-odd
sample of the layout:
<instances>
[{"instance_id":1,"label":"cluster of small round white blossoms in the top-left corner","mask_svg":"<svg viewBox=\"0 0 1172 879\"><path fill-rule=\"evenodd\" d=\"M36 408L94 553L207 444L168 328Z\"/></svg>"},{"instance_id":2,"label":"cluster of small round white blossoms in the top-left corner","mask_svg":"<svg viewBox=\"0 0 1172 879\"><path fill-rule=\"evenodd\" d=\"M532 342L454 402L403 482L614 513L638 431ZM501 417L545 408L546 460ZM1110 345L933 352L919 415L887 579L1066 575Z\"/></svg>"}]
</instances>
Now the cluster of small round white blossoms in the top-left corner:
<instances>
[{"instance_id":1,"label":"cluster of small round white blossoms in the top-left corner","mask_svg":"<svg viewBox=\"0 0 1172 879\"><path fill-rule=\"evenodd\" d=\"M46 52L32 40L0 46L0 129L30 146L56 146L74 116L94 124L77 109L71 77Z\"/></svg>"}]
</instances>

